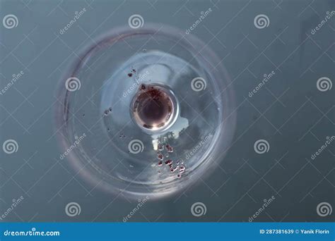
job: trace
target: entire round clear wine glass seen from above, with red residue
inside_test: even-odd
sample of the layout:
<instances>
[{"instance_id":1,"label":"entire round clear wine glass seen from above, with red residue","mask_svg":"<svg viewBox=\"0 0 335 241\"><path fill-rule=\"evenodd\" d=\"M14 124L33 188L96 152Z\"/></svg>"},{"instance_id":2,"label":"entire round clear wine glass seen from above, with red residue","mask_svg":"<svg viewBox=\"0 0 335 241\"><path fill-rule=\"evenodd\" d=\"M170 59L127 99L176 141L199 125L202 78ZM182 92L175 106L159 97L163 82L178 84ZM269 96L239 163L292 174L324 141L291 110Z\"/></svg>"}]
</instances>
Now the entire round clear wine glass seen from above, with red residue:
<instances>
[{"instance_id":1,"label":"entire round clear wine glass seen from above, with red residue","mask_svg":"<svg viewBox=\"0 0 335 241\"><path fill-rule=\"evenodd\" d=\"M77 140L66 157L93 186L163 197L222 161L235 128L230 80L211 49L181 33L114 29L62 77L59 142L66 150Z\"/></svg>"}]
</instances>

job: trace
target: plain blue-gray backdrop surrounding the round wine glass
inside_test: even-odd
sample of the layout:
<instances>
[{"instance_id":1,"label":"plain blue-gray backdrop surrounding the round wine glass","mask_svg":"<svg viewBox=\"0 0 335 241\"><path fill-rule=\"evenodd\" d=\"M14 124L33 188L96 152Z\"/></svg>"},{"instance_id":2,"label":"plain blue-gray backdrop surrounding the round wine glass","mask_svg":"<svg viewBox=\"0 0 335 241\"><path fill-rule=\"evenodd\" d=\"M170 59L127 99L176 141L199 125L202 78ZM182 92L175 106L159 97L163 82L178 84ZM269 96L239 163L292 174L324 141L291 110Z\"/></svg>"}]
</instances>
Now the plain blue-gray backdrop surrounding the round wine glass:
<instances>
[{"instance_id":1,"label":"plain blue-gray backdrop surrounding the round wine glass","mask_svg":"<svg viewBox=\"0 0 335 241\"><path fill-rule=\"evenodd\" d=\"M59 30L86 8L81 18ZM54 90L80 50L112 27L127 25L140 14L146 23L187 30L213 11L193 35L222 59L233 81L237 128L232 146L210 177L182 193L147 202L129 221L248 221L264 199L276 199L255 221L334 221L319 216L317 205L333 208L335 146L317 159L311 154L335 135L334 92L317 89L322 77L335 80L335 16L315 35L311 30L335 10L334 1L0 1L1 20L8 14L18 26L0 25L0 80L3 89L13 74L24 75L0 96L0 141L18 142L18 152L0 158L0 214L23 196L3 221L122 221L136 200L116 199L74 176L54 130ZM254 18L269 17L258 29ZM253 97L248 94L263 75L275 75ZM265 139L269 152L254 152ZM81 214L66 216L77 202ZM196 217L194 202L206 205Z\"/></svg>"}]
</instances>

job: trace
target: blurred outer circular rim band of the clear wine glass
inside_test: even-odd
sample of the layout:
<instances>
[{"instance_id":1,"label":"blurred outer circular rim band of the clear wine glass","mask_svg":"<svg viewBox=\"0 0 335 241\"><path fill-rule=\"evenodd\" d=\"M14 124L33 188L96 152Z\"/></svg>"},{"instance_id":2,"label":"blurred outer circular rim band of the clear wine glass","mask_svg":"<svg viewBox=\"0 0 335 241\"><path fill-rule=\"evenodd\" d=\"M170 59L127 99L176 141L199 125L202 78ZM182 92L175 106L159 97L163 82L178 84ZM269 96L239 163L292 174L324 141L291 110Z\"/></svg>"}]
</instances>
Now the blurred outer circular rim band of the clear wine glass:
<instances>
[{"instance_id":1,"label":"blurred outer circular rim band of the clear wine glass","mask_svg":"<svg viewBox=\"0 0 335 241\"><path fill-rule=\"evenodd\" d=\"M57 139L61 145L61 148L67 149L71 144L67 142L64 138L64 134L66 134L66 121L68 117L68 104L69 104L69 90L65 88L66 79L71 76L76 76L76 73L81 69L86 63L87 58L90 58L92 54L96 51L99 51L101 48L108 47L110 44L117 42L121 39L124 39L129 36L134 35L163 35L163 37L167 37L167 39L172 39L178 44L187 47L187 50L191 53L198 53L198 58L201 59L201 62L204 63L204 69L211 69L212 66L208 64L208 59L213 61L213 63L218 63L216 68L212 69L213 71L208 72L212 79L213 84L216 85L216 88L223 89L217 97L220 101L223 101L223 110L220 110L221 124L217 127L219 130L215 132L215 136L213 137L211 148L206 150L204 155L201 157L203 161L199 162L199 165L195 166L190 172L189 175L185 175L183 178L179 178L175 181L175 183L163 183L163 185L156 189L155 192L148 192L146 187L140 187L139 185L136 190L127 190L129 185L124 185L124 188L120 188L112 185L111 183L107 183L105 181L101 181L101 178L98 178L95 174L92 174L90 170L85 168L81 158L77 156L76 152L70 152L67 156L69 159L70 165L74 168L74 170L79 170L77 174L83 176L83 180L88 180L88 183L91 185L95 185L96 187L100 187L100 189L105 190L107 192L112 192L114 194L127 193L127 197L139 198L143 196L148 196L152 199L165 197L169 194L180 192L184 190L185 187L189 186L191 183L194 183L199 176L204 178L204 175L208 175L211 171L218 165L218 163L223 159L226 152L229 149L229 144L233 139L233 134L235 132L235 123L237 113L235 111L235 95L233 86L231 86L230 78L227 70L222 66L221 60L216 56L216 54L197 37L193 35L182 35L184 31L179 30L175 27L170 27L168 25L158 25L146 23L146 27L141 27L139 29L130 29L129 26L123 27L115 27L104 35L98 37L98 44L95 44L93 47L84 47L81 49L81 53L83 53L78 60L74 62L74 64L69 68L67 72L65 72L64 76L61 77L59 81L59 87L57 88L57 96L60 99L60 103L57 103L55 108L55 118L56 121L55 127L57 132ZM182 37L180 37L182 35ZM191 42L192 44L189 44ZM189 50L191 49L191 50ZM201 53L205 53L206 60L202 56L204 54L199 53L199 49L201 49ZM225 150L223 151L223 148ZM213 152L214 156L211 156L210 153ZM219 161L213 161L215 159L221 159ZM211 165L212 164L212 165ZM172 185L171 185L172 184ZM139 191L141 190L141 192Z\"/></svg>"}]
</instances>

